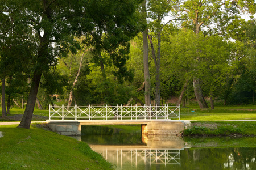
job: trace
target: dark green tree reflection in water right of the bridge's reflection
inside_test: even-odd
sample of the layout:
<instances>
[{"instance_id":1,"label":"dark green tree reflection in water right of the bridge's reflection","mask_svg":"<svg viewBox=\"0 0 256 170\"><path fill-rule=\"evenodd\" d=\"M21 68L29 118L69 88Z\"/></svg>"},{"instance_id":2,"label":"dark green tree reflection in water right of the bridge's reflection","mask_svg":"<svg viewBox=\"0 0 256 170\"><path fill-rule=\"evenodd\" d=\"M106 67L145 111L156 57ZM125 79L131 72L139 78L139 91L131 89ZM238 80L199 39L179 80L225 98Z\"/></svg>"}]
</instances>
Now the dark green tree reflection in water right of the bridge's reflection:
<instances>
[{"instance_id":1,"label":"dark green tree reflection in water right of the bridge's reflection","mask_svg":"<svg viewBox=\"0 0 256 170\"><path fill-rule=\"evenodd\" d=\"M181 169L256 169L256 148L199 148L181 151Z\"/></svg>"}]
</instances>

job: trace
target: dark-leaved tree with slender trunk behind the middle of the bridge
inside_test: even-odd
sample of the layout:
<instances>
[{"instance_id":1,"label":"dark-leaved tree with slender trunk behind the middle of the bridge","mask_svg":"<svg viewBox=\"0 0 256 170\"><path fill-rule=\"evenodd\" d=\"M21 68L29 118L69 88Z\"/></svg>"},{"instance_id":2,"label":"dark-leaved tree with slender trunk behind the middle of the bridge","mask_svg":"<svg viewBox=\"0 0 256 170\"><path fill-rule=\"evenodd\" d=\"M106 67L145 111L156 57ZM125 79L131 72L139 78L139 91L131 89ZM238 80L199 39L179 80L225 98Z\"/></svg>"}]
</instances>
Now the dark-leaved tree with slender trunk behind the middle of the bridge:
<instances>
[{"instance_id":1,"label":"dark-leaved tree with slender trunk behind the middle of the bridge","mask_svg":"<svg viewBox=\"0 0 256 170\"><path fill-rule=\"evenodd\" d=\"M101 68L102 82L106 96L112 96L105 67L114 66L113 74L118 83L132 80L132 73L125 64L129 59L130 39L140 31L135 9L140 1L110 1L108 4L93 1L90 9L95 29L84 33L83 41L93 54L92 62ZM104 55L105 54L105 55ZM109 103L110 102L110 103ZM108 104L111 100L108 100Z\"/></svg>"}]
</instances>

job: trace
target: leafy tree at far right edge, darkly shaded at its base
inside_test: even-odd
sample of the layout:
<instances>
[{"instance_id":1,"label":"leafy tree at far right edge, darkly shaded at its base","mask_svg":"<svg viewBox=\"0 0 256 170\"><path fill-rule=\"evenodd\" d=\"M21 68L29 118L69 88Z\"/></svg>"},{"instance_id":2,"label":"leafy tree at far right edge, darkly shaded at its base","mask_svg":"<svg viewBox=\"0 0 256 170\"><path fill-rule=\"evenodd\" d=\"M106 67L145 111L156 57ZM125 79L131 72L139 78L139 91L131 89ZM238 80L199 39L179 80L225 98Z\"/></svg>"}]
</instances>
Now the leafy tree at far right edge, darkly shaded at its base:
<instances>
[{"instance_id":1,"label":"leafy tree at far right edge, darkly shaded at its base","mask_svg":"<svg viewBox=\"0 0 256 170\"><path fill-rule=\"evenodd\" d=\"M233 30L233 31L232 31ZM228 27L233 43L233 62L237 65L230 90L225 95L228 103L253 103L255 94L255 19L234 20ZM229 95L229 96L228 96Z\"/></svg>"}]
</instances>

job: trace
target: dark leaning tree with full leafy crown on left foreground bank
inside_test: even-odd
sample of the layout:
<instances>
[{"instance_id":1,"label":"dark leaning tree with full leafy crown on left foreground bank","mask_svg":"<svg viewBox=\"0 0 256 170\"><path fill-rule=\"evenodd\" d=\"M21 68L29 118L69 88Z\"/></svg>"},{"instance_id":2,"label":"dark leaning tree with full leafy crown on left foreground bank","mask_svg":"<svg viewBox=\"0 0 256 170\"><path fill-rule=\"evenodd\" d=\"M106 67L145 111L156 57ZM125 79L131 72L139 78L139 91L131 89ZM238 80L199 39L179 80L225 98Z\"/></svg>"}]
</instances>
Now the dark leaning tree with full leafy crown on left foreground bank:
<instances>
[{"instance_id":1,"label":"dark leaning tree with full leafy crown on left foreground bank","mask_svg":"<svg viewBox=\"0 0 256 170\"><path fill-rule=\"evenodd\" d=\"M74 1L2 1L2 11L7 15L6 20L13 20L17 31L22 28L27 35L26 40L36 46L32 60L32 80L27 106L24 111L20 128L29 128L34 111L36 94L42 74L47 74L51 66L57 63L57 54L64 54L70 42L74 42L71 34L71 18L79 15L81 6ZM73 9L73 10L71 10ZM77 12L77 13L76 13ZM9 27L10 29L12 27ZM22 39L22 37L17 37ZM69 42L69 43L68 43ZM55 46L53 46L55 43ZM23 46L27 49L27 46ZM50 66L50 67L49 67Z\"/></svg>"}]
</instances>

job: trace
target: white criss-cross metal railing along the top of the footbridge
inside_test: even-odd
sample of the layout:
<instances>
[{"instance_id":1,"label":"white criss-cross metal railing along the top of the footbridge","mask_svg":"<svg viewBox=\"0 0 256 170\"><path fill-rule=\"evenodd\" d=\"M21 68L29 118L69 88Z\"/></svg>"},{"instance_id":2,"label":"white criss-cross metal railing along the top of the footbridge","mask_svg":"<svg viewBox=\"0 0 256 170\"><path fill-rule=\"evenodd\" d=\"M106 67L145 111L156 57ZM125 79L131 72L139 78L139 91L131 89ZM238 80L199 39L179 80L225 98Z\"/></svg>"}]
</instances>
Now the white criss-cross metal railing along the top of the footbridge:
<instances>
[{"instance_id":1,"label":"white criss-cross metal railing along the top of the footbridge","mask_svg":"<svg viewBox=\"0 0 256 170\"><path fill-rule=\"evenodd\" d=\"M49 105L49 120L156 120L179 118L179 106L80 106Z\"/></svg>"}]
</instances>

